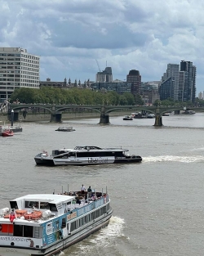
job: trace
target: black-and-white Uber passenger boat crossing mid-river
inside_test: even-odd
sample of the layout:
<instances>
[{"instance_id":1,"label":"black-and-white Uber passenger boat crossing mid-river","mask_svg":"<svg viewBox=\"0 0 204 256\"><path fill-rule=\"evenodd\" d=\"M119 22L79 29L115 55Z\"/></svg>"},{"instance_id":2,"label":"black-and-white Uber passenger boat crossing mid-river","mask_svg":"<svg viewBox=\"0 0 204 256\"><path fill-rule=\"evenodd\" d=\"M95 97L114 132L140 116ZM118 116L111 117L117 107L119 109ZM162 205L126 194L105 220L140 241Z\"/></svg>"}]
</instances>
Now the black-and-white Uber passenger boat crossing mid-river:
<instances>
[{"instance_id":1,"label":"black-and-white Uber passenger boat crossing mid-river","mask_svg":"<svg viewBox=\"0 0 204 256\"><path fill-rule=\"evenodd\" d=\"M47 151L34 157L36 164L42 165L87 165L87 164L128 164L141 162L140 155L126 154L122 148L100 148L98 146L76 146L74 149Z\"/></svg>"}]
</instances>

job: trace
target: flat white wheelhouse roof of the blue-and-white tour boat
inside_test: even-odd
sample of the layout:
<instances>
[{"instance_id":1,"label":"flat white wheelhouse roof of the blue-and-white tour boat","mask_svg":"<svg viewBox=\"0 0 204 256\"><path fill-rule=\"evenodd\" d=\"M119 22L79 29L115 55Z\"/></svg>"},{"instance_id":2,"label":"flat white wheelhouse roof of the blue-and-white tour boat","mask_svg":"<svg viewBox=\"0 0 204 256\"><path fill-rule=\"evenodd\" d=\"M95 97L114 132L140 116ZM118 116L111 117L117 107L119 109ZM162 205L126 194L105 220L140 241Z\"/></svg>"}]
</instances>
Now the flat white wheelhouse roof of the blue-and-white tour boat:
<instances>
[{"instance_id":1,"label":"flat white wheelhouse roof of the blue-and-white tour boat","mask_svg":"<svg viewBox=\"0 0 204 256\"><path fill-rule=\"evenodd\" d=\"M53 195L53 194L33 194L33 195L24 195L21 197L18 197L11 201L18 201L18 200L45 200L49 203L57 204L64 201L73 200L75 196L71 195Z\"/></svg>"}]
</instances>

